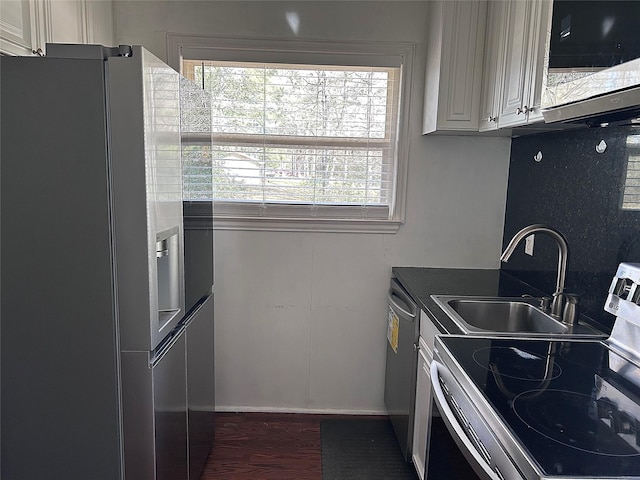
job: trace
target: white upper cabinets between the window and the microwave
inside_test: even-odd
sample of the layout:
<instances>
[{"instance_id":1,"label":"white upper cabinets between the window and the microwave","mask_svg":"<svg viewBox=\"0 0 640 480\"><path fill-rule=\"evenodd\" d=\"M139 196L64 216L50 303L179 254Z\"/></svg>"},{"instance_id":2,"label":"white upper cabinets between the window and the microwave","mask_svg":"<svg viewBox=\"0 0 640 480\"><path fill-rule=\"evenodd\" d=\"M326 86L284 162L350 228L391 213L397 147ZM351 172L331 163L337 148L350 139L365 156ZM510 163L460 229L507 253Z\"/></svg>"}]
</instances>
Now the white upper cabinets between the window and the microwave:
<instances>
[{"instance_id":1,"label":"white upper cabinets between the window and the microwave","mask_svg":"<svg viewBox=\"0 0 640 480\"><path fill-rule=\"evenodd\" d=\"M509 134L542 121L551 9L552 0L434 1L423 133Z\"/></svg>"}]
</instances>

